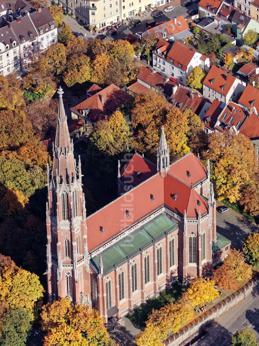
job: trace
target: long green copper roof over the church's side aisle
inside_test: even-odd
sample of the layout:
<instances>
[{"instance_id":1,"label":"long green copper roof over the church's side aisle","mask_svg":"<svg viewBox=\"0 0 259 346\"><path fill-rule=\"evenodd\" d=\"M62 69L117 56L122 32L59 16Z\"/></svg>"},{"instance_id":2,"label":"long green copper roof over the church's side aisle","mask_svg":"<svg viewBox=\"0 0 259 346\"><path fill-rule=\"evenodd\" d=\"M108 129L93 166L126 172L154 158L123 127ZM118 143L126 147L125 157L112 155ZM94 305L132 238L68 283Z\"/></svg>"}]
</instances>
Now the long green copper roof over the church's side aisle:
<instances>
[{"instance_id":1,"label":"long green copper roof over the church's side aisle","mask_svg":"<svg viewBox=\"0 0 259 346\"><path fill-rule=\"evenodd\" d=\"M178 225L165 213L157 216L144 226L110 246L101 253L103 262L103 273L107 275L114 270L114 266L121 266L127 262L127 257L135 257L140 249L146 250L152 245L152 241L159 241L165 237L165 233L172 233ZM91 258L92 265L99 272L100 255Z\"/></svg>"}]
</instances>

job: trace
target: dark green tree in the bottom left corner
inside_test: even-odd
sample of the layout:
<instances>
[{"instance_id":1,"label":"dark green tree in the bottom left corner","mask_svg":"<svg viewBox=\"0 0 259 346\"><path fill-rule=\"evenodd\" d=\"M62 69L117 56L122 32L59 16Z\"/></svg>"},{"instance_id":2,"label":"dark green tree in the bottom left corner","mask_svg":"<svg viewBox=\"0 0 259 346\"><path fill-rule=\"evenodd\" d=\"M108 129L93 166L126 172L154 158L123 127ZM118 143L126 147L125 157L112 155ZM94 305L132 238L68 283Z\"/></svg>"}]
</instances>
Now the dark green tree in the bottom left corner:
<instances>
[{"instance_id":1,"label":"dark green tree in the bottom left corner","mask_svg":"<svg viewBox=\"0 0 259 346\"><path fill-rule=\"evenodd\" d=\"M0 344L24 346L31 330L31 313L23 308L9 308L0 321Z\"/></svg>"}]
</instances>

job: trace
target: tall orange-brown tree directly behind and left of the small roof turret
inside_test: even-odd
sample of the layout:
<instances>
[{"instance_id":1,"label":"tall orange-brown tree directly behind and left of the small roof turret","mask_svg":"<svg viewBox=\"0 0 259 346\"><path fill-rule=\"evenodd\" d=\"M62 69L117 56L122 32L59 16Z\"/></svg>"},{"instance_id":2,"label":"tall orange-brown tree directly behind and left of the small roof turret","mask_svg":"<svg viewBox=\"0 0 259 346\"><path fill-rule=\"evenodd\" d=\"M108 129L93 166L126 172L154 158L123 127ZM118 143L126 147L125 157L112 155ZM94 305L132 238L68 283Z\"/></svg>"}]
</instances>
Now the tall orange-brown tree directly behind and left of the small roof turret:
<instances>
[{"instance_id":1,"label":"tall orange-brown tree directly behind and left of the small roof turret","mask_svg":"<svg viewBox=\"0 0 259 346\"><path fill-rule=\"evenodd\" d=\"M135 98L131 116L134 128L133 146L138 151L155 154L159 144L160 128L166 120L167 111L168 104L165 98L155 91L148 91ZM174 121L172 117L168 119Z\"/></svg>"}]
</instances>

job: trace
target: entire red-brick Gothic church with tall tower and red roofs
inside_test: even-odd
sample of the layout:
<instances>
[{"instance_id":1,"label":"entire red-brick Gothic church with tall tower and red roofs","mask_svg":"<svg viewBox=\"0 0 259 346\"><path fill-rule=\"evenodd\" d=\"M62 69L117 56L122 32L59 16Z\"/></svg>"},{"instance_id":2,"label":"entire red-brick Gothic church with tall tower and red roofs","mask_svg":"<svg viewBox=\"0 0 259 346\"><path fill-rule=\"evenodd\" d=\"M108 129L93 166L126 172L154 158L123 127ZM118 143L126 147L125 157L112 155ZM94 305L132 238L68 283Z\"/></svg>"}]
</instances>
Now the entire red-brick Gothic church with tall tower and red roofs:
<instances>
[{"instance_id":1,"label":"entire red-brick Gothic church with tall tower and red roofs","mask_svg":"<svg viewBox=\"0 0 259 346\"><path fill-rule=\"evenodd\" d=\"M205 167L192 153L170 164L161 129L157 164L126 154L119 197L86 216L61 88L46 203L48 299L89 304L120 318L175 280L209 276L230 241L216 233L216 203ZM214 251L214 253L213 253Z\"/></svg>"}]
</instances>

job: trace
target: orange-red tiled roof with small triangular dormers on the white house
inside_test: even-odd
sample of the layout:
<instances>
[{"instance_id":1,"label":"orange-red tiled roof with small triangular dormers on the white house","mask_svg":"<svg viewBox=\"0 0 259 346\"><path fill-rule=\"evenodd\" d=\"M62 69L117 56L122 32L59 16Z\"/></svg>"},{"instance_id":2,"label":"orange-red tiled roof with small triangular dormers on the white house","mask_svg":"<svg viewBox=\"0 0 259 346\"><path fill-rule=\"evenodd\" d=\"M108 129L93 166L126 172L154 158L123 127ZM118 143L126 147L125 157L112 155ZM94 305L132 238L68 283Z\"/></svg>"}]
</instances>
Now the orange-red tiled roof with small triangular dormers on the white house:
<instances>
[{"instance_id":1,"label":"orange-red tiled roof with small triangular dormers on the white house","mask_svg":"<svg viewBox=\"0 0 259 346\"><path fill-rule=\"evenodd\" d=\"M226 79L226 76L228 76L227 79ZM213 81L213 84L211 83L212 81ZM234 81L235 81L235 77L222 71L218 67L212 65L209 73L206 75L206 78L203 84L209 86L209 88L216 90L220 94L226 96L231 86L233 85ZM223 86L225 86L224 90L222 90Z\"/></svg>"}]
</instances>

